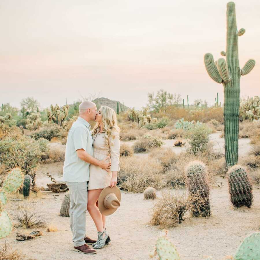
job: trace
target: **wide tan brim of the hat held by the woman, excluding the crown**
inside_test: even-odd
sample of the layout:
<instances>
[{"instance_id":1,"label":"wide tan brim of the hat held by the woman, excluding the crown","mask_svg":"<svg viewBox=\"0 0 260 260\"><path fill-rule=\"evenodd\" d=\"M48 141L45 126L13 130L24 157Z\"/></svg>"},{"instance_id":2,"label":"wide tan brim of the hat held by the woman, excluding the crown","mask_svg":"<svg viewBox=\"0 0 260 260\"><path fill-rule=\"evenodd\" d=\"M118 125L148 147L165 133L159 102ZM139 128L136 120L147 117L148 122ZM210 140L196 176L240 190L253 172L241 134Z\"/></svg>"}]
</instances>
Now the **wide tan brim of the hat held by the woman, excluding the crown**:
<instances>
[{"instance_id":1,"label":"wide tan brim of the hat held by the woman, excluding the crown","mask_svg":"<svg viewBox=\"0 0 260 260\"><path fill-rule=\"evenodd\" d=\"M109 193L114 193L116 195L117 199L119 201L121 201L121 192L117 186L114 186L112 188L110 186L108 186L104 190L102 190L102 192L99 195L98 207L99 207L99 211L104 216L109 216L117 210L117 208L116 209L107 209L104 206L104 199L107 196L107 194L109 194Z\"/></svg>"}]
</instances>

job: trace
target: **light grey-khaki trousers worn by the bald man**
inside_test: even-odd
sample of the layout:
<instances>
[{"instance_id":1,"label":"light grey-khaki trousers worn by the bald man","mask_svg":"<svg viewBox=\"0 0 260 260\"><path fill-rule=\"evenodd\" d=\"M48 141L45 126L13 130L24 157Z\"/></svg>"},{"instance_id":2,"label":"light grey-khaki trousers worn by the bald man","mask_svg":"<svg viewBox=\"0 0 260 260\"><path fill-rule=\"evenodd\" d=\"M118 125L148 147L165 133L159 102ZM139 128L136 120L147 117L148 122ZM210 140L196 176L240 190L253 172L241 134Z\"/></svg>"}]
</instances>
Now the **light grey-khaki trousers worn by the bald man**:
<instances>
[{"instance_id":1,"label":"light grey-khaki trousers worn by the bald man","mask_svg":"<svg viewBox=\"0 0 260 260\"><path fill-rule=\"evenodd\" d=\"M86 210L88 201L88 182L66 181L70 190L70 229L74 246L82 246L86 237Z\"/></svg>"}]
</instances>

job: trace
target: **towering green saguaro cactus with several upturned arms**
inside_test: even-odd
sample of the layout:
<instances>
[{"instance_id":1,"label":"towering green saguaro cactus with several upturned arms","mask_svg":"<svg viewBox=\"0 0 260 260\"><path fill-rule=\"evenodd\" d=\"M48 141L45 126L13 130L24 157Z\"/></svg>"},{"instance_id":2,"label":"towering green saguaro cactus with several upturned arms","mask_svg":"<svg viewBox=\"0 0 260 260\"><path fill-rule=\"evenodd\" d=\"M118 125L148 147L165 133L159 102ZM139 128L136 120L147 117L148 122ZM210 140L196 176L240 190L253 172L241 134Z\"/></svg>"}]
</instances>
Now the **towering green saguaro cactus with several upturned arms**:
<instances>
[{"instance_id":1,"label":"towering green saguaro cactus with several upturned arms","mask_svg":"<svg viewBox=\"0 0 260 260\"><path fill-rule=\"evenodd\" d=\"M254 60L248 60L240 69L238 60L238 36L245 33L245 29L237 31L235 16L235 3L227 3L227 33L226 56L214 62L213 55L206 53L204 62L209 76L224 86L224 133L225 133L225 157L227 166L233 166L238 159L238 124L239 124L239 95L240 77L248 74L255 66Z\"/></svg>"}]
</instances>

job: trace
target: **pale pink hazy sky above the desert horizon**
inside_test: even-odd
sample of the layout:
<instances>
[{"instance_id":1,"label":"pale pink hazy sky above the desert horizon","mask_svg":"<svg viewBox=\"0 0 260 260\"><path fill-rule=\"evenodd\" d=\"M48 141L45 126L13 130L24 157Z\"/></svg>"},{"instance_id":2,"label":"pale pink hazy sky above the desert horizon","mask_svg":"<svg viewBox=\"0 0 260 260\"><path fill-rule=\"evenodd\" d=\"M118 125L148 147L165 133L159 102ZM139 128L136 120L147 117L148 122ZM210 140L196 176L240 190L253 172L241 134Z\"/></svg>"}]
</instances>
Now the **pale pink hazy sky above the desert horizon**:
<instances>
[{"instance_id":1,"label":"pale pink hazy sky above the desert horizon","mask_svg":"<svg viewBox=\"0 0 260 260\"><path fill-rule=\"evenodd\" d=\"M41 107L98 94L140 109L147 93L180 93L213 105L223 86L203 56L226 49L226 3L172 0L2 0L0 103ZM235 1L239 62L256 60L241 77L241 96L259 95L260 1Z\"/></svg>"}]
</instances>

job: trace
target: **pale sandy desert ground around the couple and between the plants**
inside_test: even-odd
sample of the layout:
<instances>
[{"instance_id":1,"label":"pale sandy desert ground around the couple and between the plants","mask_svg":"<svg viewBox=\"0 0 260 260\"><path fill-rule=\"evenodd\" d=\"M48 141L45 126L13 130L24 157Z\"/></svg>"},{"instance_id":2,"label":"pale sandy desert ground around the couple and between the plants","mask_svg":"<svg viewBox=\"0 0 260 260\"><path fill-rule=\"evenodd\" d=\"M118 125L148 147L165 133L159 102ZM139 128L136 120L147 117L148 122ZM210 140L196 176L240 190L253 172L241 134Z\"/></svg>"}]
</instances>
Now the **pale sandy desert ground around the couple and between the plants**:
<instances>
[{"instance_id":1,"label":"pale sandy desert ground around the couple and between the plants","mask_svg":"<svg viewBox=\"0 0 260 260\"><path fill-rule=\"evenodd\" d=\"M211 139L216 141L217 148L222 149L224 139L218 136L219 133L215 133L211 135ZM173 147L173 142L174 140L166 140L165 146ZM242 155L250 150L248 143L248 139L239 139L239 151ZM65 147L58 143L51 146L61 149ZM44 174L47 171L59 180L62 176L62 166L62 162L42 164L36 175L37 185L46 187L46 184L51 182ZM205 256L212 256L216 260L223 259L226 255L233 255L247 235L260 230L260 190L254 189L254 202L250 209L235 210L230 202L226 179L217 179L217 182L219 187L211 188L210 218L187 218L179 226L169 229L168 237L176 246L182 260L203 259ZM24 259L150 259L149 253L153 251L156 239L161 233L157 226L149 225L151 209L156 200L144 200L143 194L122 191L121 207L107 217L110 244L98 250L96 255L83 255L73 251L69 218L59 216L64 196L64 193L42 191L38 197L31 195L27 200L8 202L5 209L10 214L20 205L29 205L32 211L37 211L47 218L48 223L57 227L58 231L48 233L46 228L18 228L6 239L1 239L0 244L4 244L6 240L12 248L25 255ZM160 191L157 191L157 196L160 196ZM17 231L29 234L34 230L42 231L43 235L25 242L15 240ZM88 213L86 230L88 236L96 238L96 228Z\"/></svg>"}]
</instances>

